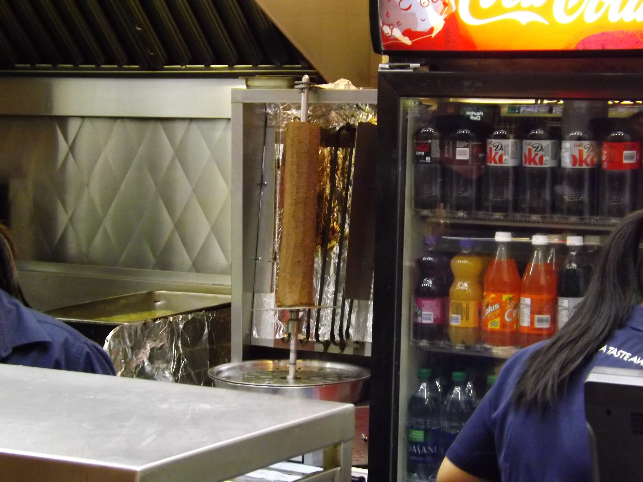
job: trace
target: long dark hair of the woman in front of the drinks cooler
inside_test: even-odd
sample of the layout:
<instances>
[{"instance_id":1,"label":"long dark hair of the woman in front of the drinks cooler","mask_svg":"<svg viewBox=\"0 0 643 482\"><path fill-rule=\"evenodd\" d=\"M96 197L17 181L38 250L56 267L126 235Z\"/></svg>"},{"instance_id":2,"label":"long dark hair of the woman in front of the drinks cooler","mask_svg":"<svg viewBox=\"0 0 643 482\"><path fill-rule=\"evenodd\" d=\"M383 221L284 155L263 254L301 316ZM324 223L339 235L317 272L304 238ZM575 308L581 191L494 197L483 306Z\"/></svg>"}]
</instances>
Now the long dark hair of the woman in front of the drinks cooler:
<instances>
[{"instance_id":1,"label":"long dark hair of the woman in front of the drinks cooler","mask_svg":"<svg viewBox=\"0 0 643 482\"><path fill-rule=\"evenodd\" d=\"M516 407L542 412L553 406L565 395L570 377L627 321L643 292L638 251L642 233L643 211L632 213L612 231L583 301L551 341L527 359L514 389Z\"/></svg>"}]
</instances>

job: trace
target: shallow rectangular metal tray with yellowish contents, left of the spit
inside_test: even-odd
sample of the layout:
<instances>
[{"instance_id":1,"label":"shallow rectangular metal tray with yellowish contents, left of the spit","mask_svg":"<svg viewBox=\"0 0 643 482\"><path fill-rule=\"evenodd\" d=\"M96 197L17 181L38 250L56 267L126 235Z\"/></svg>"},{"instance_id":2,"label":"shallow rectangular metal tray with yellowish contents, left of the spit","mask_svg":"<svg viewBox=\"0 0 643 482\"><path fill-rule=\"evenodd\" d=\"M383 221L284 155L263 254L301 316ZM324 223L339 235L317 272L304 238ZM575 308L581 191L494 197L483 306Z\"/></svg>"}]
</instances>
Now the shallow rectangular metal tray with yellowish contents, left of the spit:
<instances>
[{"instance_id":1,"label":"shallow rectangular metal tray with yellowish contents, left of the spit","mask_svg":"<svg viewBox=\"0 0 643 482\"><path fill-rule=\"evenodd\" d=\"M88 301L46 312L63 321L131 323L207 310L230 303L230 296L180 291L143 291Z\"/></svg>"}]
</instances>

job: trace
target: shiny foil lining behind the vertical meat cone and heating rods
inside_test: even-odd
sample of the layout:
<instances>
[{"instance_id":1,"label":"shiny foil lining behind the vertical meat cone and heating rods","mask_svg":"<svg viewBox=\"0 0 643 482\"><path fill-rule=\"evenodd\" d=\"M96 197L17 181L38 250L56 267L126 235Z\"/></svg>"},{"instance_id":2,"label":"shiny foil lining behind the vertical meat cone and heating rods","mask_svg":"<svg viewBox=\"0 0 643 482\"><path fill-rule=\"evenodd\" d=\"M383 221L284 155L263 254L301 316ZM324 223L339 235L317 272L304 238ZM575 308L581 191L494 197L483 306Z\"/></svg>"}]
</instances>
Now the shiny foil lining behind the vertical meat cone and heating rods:
<instances>
[{"instance_id":1,"label":"shiny foil lining behind the vertical meat cone and heating rods","mask_svg":"<svg viewBox=\"0 0 643 482\"><path fill-rule=\"evenodd\" d=\"M281 172L280 166L284 154L284 130L285 124L289 121L298 120L300 116L300 105L296 103L285 104L268 104L267 109L267 123L275 125L276 127L276 148L275 148L275 165L276 169L276 186L280 186ZM349 124L352 127L357 127L359 122L377 121L377 106L372 104L326 104L326 103L311 103L309 105L309 122L318 123L323 129L338 130L341 127ZM328 199L331 195L331 163L333 157L332 147L322 147L320 155L322 156L322 166L320 170L320 186L318 194L318 213L317 213L317 254L314 265L314 285L316 287L315 301L318 301L321 283L321 244L323 240L323 228L325 224L325 213L327 211ZM350 196L352 192L348 193L348 209L347 217L344 227L344 240L341 255L341 269L338 275L337 263L339 255L339 245L341 233L341 210L345 195L345 186L347 184L347 175L352 175L352 170L349 172L349 154L350 148L341 147L338 149L338 166L335 176L336 188L332 193L333 201L331 207L331 224L329 226L329 242L327 245L327 257L325 272L323 274L323 294L321 297L321 307L316 310L311 310L311 326L310 326L310 339L315 339L316 334L316 321L319 314L319 330L318 337L320 341L327 341L332 339L331 327L333 326L334 319L334 339L340 340L340 327L345 332L347 323L349 323L350 315L350 341L371 341L372 333L372 295L370 301L354 300L352 303L352 310L350 307L350 300L343 300L343 286L345 277L346 254L348 251L349 242L349 226L350 226ZM276 272L278 271L279 252L278 246L281 238L281 219L282 211L280 209L279 193L280 189L276 189L276 202L273 214L275 218L275 279L273 279L273 290L276 284ZM338 278L336 280L336 278ZM336 282L337 281L337 282ZM372 291L372 290L371 290ZM335 294L337 293L337 296ZM343 307L343 309L342 309ZM300 338L305 338L307 311L302 311L303 323L300 324ZM254 295L254 310L253 310L253 337L257 338L281 338L287 332L285 320L289 316L287 311L275 310L275 294L274 292L255 292ZM343 322L342 322L343 320ZM342 333L341 337L343 337Z\"/></svg>"}]
</instances>

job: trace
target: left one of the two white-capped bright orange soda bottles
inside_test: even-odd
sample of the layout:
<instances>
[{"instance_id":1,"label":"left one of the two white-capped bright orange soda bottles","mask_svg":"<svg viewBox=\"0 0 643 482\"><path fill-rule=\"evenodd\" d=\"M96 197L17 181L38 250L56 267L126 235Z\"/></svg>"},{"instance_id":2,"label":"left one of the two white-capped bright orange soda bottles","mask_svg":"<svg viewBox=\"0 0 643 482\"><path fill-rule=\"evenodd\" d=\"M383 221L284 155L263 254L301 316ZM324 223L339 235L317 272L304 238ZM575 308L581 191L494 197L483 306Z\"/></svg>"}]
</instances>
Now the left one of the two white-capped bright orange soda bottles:
<instances>
[{"instance_id":1,"label":"left one of the two white-capped bright orange soda bottles","mask_svg":"<svg viewBox=\"0 0 643 482\"><path fill-rule=\"evenodd\" d=\"M482 343L489 346L518 344L518 301L520 274L516 261L509 256L507 243L511 233L496 233L498 251L484 277L482 299Z\"/></svg>"}]
</instances>

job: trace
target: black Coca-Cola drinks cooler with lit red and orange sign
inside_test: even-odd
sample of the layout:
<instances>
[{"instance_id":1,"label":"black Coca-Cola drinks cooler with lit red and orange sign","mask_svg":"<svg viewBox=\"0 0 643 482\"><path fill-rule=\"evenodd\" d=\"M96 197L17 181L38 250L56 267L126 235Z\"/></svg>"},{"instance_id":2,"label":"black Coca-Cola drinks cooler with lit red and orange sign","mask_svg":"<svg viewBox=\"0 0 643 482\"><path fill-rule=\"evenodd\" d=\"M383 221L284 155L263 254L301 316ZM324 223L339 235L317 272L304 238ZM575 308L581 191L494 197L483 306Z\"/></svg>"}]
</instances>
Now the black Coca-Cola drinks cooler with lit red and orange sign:
<instances>
[{"instance_id":1,"label":"black Coca-Cola drinks cooler with lit red and orange sign","mask_svg":"<svg viewBox=\"0 0 643 482\"><path fill-rule=\"evenodd\" d=\"M601 244L643 207L633 12L371 2L374 48L389 56L378 82L373 481L433 479L503 363L566 323Z\"/></svg>"}]
</instances>

